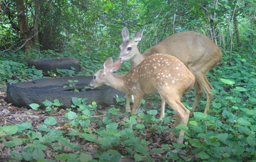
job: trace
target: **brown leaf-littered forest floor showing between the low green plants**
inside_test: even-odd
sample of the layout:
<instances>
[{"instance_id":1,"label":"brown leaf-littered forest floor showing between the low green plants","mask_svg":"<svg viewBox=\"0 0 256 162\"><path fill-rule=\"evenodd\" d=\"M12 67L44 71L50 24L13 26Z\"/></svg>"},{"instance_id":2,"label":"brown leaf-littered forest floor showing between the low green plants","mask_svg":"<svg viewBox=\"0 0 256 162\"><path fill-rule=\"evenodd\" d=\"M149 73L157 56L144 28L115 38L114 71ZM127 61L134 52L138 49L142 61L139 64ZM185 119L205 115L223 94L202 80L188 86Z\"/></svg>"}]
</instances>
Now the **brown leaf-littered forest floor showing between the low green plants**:
<instances>
[{"instance_id":1,"label":"brown leaf-littered forest floor showing between the low green plants","mask_svg":"<svg viewBox=\"0 0 256 162\"><path fill-rule=\"evenodd\" d=\"M40 132L40 130L38 130L37 128L40 125L43 125L44 120L46 118L48 118L49 116L53 116L56 120L57 120L57 124L51 126L51 129L57 129L57 130L66 130L66 132L71 132L72 130L74 130L70 125L66 126L70 121L66 118L64 118L64 114L66 114L68 111L67 110L57 110L57 112L55 113L49 113L43 110L33 110L33 109L27 109L27 107L16 107L15 105L13 105L12 103L8 103L7 102L7 97L6 97L6 92L0 92L0 125L4 126L4 125L15 125L15 124L21 124L21 123L32 123L32 131L34 132ZM97 130L99 128L99 125L97 124L98 121L102 121L102 118L105 116L105 112L106 112L106 108L98 106L97 107L97 111L95 111L94 116L97 116L98 120L95 120L93 122L91 122L91 130L93 132L93 130ZM127 117L121 117L120 121L117 121L117 123L119 123L119 125L121 125L121 123L123 121L126 120ZM172 123L173 124L173 123ZM171 124L171 125L172 125ZM169 125L169 127L171 127L171 125ZM138 135L138 137L140 139L145 139L148 142L147 148L150 151L150 155L151 158L153 159L154 162L161 162L163 161L163 158L167 152L162 152L160 154L155 154L152 152L153 148L160 148L162 144L171 144L172 142L174 142L175 139L170 140L168 135L169 132L166 131L162 131L162 134L156 134L155 132L153 132L150 129L151 125L145 125L146 130L146 136L144 135ZM139 133L138 133L139 134ZM16 137L18 138L25 138L24 136L27 136L25 133L21 134L21 135L17 135ZM5 137L5 140L8 141L8 138L11 139L10 137ZM101 150L100 146L97 143L93 143L93 142L88 142L85 139L81 139L81 138L77 138L74 136L69 136L69 139L71 142L78 144L79 146L81 146L82 150L80 152L84 152L87 153L89 155L91 155L93 158L97 159L96 156L96 151L97 150ZM16 151L20 151L21 149L23 149L25 147L24 146L20 146L19 148L15 148ZM126 153L125 147L119 147L119 148L110 148L110 149L114 149L119 151L119 153L121 153L122 155ZM0 143L0 161L2 162L2 160L8 160L11 158L11 154L10 154L11 148L9 147L5 147L3 143ZM13 151L13 150L12 150ZM46 158L48 159L54 159L54 155L55 155L55 150L53 150L52 147L48 147L46 148L45 154L46 154ZM78 153L78 151L73 151L71 150L71 148L65 148L65 153ZM191 150L190 150L191 151ZM189 151L189 152L190 152ZM190 152L191 153L191 152ZM191 156L191 154L190 154ZM129 158L129 156L125 156L126 158L122 158L119 162L133 162L133 158ZM193 159L193 157L192 157Z\"/></svg>"}]
</instances>

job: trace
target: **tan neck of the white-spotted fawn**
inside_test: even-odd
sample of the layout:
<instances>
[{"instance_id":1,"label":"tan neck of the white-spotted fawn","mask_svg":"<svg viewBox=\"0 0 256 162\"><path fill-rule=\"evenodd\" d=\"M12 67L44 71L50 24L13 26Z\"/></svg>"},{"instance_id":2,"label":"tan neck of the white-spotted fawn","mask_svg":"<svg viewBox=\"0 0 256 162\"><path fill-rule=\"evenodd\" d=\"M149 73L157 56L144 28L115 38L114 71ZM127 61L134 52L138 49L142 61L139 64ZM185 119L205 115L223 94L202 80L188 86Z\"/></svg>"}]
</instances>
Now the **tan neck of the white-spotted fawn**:
<instances>
[{"instance_id":1,"label":"tan neck of the white-spotted fawn","mask_svg":"<svg viewBox=\"0 0 256 162\"><path fill-rule=\"evenodd\" d=\"M115 73L108 73L107 74L107 82L106 85L117 89L118 91L127 93L128 90L125 88L125 81L124 81L125 75L117 75Z\"/></svg>"}]
</instances>

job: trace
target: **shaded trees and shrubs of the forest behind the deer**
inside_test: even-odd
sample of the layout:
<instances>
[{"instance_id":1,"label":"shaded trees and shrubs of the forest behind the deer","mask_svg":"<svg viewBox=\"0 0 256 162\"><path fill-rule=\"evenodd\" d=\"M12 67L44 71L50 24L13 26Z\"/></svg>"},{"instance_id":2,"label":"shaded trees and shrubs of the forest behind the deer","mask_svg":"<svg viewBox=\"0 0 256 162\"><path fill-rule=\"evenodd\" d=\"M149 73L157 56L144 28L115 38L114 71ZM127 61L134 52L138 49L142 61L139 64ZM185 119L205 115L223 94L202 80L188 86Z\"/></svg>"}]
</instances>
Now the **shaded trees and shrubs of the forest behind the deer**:
<instances>
[{"instance_id":1,"label":"shaded trees and shrubs of the forest behind the deer","mask_svg":"<svg viewBox=\"0 0 256 162\"><path fill-rule=\"evenodd\" d=\"M253 56L255 4L255 0L2 0L0 50L1 55L19 50L118 55L122 27L130 33L146 27L142 51L171 34L193 30L208 35L224 55L232 57L238 50Z\"/></svg>"}]
</instances>

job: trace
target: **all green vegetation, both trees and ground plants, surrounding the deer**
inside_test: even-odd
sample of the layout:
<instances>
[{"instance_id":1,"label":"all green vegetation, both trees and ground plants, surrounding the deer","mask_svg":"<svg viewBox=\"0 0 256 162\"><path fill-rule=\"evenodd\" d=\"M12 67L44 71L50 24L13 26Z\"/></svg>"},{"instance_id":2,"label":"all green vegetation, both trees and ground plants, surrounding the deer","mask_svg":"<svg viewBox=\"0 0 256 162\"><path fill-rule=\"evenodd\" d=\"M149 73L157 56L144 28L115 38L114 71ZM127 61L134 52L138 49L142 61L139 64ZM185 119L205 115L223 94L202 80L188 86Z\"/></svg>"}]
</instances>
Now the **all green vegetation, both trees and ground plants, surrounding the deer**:
<instances>
[{"instance_id":1,"label":"all green vegetation, both trees and ground plants, surrounding the deer","mask_svg":"<svg viewBox=\"0 0 256 162\"><path fill-rule=\"evenodd\" d=\"M56 160L67 162L118 162L126 155L135 161L153 161L152 156L166 154L171 148L188 150L188 156L184 157L188 161L256 161L256 0L27 0L24 5L29 32L36 24L35 11L38 11L39 42L34 43L40 45L40 50L23 47L17 1L0 1L0 87L10 82L74 75L61 70L45 74L27 67L27 60L32 58L75 57L80 59L83 69L76 75L92 75L107 57L118 56L121 30L125 26L130 34L146 27L138 45L142 52L173 33L194 30L211 37L222 48L223 57L221 64L207 75L215 88L210 113L201 113L206 105L202 99L187 126L170 129L177 133L186 131L184 144L165 143L150 150L149 143L141 138L146 130L159 136L169 132L167 124L172 122L174 112L166 109L167 117L163 122L158 120L158 95L146 98L153 103L142 105L146 109L144 114L139 113L137 118L130 116L125 121L121 121L126 116L121 113L123 98L117 98L119 107L109 108L102 119L93 116L97 111L95 102L73 98L73 105L63 116L73 128L71 132L51 129L57 122L51 115L39 128L33 128L31 123L0 127L0 143L11 149L13 161L51 162L44 159L47 147L56 151ZM38 9L35 2L39 2ZM118 73L129 69L130 65L125 63ZM57 99L45 102L46 111L57 111L61 105ZM191 108L194 94L187 93L182 100ZM34 103L31 107L37 109L38 105ZM91 123L98 123L98 129L91 131ZM129 128L130 123L135 131ZM21 134L27 136L18 138ZM71 137L98 145L97 158L79 152L79 141L73 143ZM22 145L27 147L17 151ZM67 152L64 146L77 153ZM121 148L125 152L119 152ZM179 159L176 153L171 153L169 159L162 158Z\"/></svg>"}]
</instances>

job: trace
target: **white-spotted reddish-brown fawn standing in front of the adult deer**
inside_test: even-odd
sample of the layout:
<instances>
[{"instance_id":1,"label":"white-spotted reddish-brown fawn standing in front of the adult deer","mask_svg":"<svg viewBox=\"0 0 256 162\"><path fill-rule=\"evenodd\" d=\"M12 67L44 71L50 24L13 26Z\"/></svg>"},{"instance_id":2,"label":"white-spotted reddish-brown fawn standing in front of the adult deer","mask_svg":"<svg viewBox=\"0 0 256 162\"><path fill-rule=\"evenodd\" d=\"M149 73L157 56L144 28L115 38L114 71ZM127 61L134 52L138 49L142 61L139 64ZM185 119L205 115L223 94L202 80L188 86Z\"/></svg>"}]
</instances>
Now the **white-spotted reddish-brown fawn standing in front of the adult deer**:
<instances>
[{"instance_id":1,"label":"white-spotted reddish-brown fawn standing in front of the adult deer","mask_svg":"<svg viewBox=\"0 0 256 162\"><path fill-rule=\"evenodd\" d=\"M194 75L176 57L166 54L155 54L144 59L124 75L112 73L120 67L121 59L113 63L108 58L103 68L96 72L89 87L92 89L106 84L126 93L126 111L130 109L129 98L134 96L132 115L137 113L143 97L158 92L175 111L175 123L187 125L190 111L181 103L181 95L194 85ZM165 110L161 109L161 115ZM184 131L181 130L178 143L183 143Z\"/></svg>"}]
</instances>

